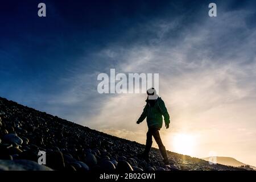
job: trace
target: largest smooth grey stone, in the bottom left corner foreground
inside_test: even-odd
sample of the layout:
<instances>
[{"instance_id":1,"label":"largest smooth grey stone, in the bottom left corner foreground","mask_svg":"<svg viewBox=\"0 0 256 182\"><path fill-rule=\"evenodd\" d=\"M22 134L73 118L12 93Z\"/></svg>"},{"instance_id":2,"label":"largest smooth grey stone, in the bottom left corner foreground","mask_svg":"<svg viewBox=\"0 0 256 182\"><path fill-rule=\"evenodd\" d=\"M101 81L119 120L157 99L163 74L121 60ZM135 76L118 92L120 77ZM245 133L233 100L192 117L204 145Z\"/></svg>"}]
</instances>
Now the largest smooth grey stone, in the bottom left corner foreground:
<instances>
[{"instance_id":1,"label":"largest smooth grey stone, in the bottom left corner foreground","mask_svg":"<svg viewBox=\"0 0 256 182\"><path fill-rule=\"evenodd\" d=\"M0 171L52 171L31 160L0 160Z\"/></svg>"}]
</instances>

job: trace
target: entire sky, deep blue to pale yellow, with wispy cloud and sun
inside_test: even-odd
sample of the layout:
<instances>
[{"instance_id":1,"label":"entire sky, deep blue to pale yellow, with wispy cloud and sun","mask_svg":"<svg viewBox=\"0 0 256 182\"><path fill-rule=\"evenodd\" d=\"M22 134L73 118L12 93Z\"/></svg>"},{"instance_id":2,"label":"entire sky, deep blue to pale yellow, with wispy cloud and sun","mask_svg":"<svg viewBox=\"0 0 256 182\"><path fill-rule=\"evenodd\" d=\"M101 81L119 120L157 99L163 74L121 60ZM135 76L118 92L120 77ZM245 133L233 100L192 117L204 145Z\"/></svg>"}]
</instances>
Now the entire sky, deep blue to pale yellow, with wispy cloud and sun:
<instances>
[{"instance_id":1,"label":"entire sky, deep blue to pale yellow, with wispy cloud and sun","mask_svg":"<svg viewBox=\"0 0 256 182\"><path fill-rule=\"evenodd\" d=\"M146 95L99 94L97 75L159 73L168 150L256 166L255 1L214 2L1 3L0 96L144 144Z\"/></svg>"}]
</instances>

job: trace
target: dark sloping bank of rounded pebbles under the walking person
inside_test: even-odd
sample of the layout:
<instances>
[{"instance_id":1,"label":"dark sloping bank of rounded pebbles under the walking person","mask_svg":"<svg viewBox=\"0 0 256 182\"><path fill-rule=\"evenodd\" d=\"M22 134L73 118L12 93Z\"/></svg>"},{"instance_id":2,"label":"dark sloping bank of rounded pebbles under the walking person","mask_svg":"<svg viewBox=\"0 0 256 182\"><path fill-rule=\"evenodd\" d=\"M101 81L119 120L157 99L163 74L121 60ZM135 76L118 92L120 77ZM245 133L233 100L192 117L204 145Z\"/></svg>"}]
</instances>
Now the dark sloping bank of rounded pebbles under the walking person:
<instances>
[{"instance_id":1,"label":"dark sloping bank of rounded pebbles under the walking person","mask_svg":"<svg viewBox=\"0 0 256 182\"><path fill-rule=\"evenodd\" d=\"M144 145L113 137L0 97L0 170L174 171L239 170L158 149L150 162L137 158ZM46 166L38 151L46 151Z\"/></svg>"}]
</instances>

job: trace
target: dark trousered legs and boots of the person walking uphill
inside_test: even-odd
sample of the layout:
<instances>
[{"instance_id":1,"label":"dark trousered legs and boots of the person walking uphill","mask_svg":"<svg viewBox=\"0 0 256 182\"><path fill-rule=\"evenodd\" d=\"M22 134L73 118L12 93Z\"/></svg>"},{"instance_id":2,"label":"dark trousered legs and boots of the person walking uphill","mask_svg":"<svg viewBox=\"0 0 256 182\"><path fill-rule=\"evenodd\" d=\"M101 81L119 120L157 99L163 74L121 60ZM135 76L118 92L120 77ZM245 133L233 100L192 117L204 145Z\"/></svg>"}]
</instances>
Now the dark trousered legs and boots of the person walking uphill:
<instances>
[{"instance_id":1,"label":"dark trousered legs and boots of the person walking uphill","mask_svg":"<svg viewBox=\"0 0 256 182\"><path fill-rule=\"evenodd\" d=\"M159 129L149 128L147 131L147 140L146 140L146 147L144 150L144 156L148 158L149 152L152 146L152 136L155 138L156 143L158 144L159 150L163 156L163 159L166 163L168 163L168 156L166 153L166 147L164 147L163 142L160 138Z\"/></svg>"}]
</instances>

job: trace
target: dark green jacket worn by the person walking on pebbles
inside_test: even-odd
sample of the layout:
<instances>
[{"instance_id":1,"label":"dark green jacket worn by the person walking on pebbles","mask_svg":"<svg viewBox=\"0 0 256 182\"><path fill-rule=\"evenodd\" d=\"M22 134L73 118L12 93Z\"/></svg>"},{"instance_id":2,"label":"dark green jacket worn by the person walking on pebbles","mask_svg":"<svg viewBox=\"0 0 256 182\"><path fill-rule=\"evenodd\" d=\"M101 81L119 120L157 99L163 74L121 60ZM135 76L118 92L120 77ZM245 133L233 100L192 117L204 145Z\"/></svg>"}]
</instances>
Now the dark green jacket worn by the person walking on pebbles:
<instances>
[{"instance_id":1,"label":"dark green jacket worn by the person walking on pebbles","mask_svg":"<svg viewBox=\"0 0 256 182\"><path fill-rule=\"evenodd\" d=\"M154 106L150 106L148 100L146 100L146 102L147 104L143 109L141 117L138 119L139 123L147 117L148 128L154 127L160 129L163 126L162 115L164 116L164 122L166 124L170 123L170 116L166 109L166 105L164 105L164 101L160 97L155 100Z\"/></svg>"}]
</instances>

